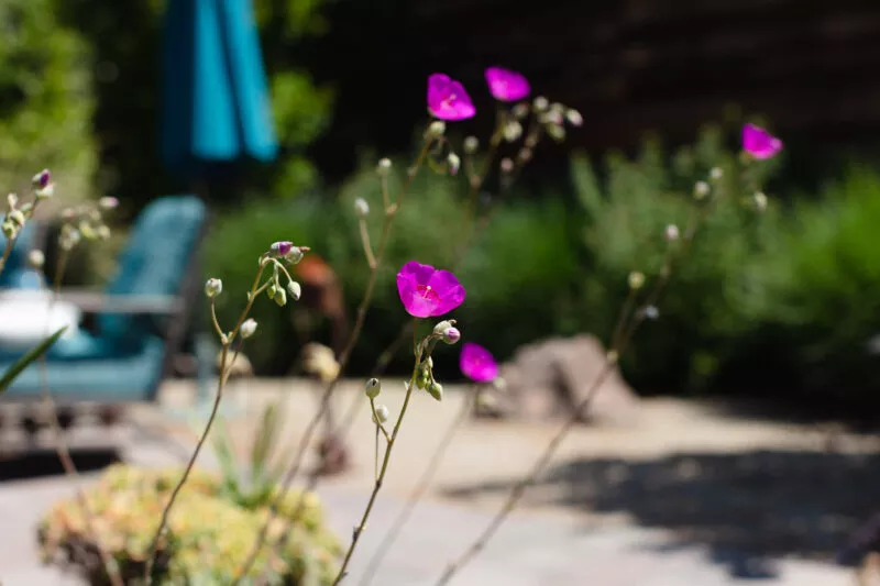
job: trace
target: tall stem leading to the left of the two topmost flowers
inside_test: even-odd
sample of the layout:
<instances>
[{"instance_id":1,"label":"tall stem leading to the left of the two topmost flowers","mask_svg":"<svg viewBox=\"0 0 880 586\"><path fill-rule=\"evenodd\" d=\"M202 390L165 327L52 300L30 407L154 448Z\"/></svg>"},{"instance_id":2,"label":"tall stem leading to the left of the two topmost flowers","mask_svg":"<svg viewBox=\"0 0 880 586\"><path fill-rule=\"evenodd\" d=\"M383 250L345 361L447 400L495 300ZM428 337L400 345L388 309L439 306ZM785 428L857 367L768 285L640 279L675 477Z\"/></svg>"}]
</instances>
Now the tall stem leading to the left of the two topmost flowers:
<instances>
[{"instance_id":1,"label":"tall stem leading to the left of the two topmost flowers","mask_svg":"<svg viewBox=\"0 0 880 586\"><path fill-rule=\"evenodd\" d=\"M411 185L413 179L415 179L418 169L425 162L425 157L428 155L428 150L430 148L430 146L431 146L431 140L426 139L425 144L421 151L419 152L418 157L416 158L416 163L409 169L408 177L404 183L403 187L400 188L400 192L397 196L397 201L391 203L385 210L385 220L383 221L382 224L382 233L380 235L378 246L376 247L376 253L375 253L375 264L370 268L370 277L366 283L366 288L364 289L364 296L361 299L361 305L358 307L358 316L355 318L354 328L351 331L351 335L349 336L345 346L342 349L342 353L339 355L338 360L339 372L337 373L337 376L334 376L330 382L328 382L323 392L321 394L321 398L318 405L318 411L311 418L308 425L306 425L306 430L302 432L302 438L300 439L297 452L294 455L294 461L282 479L282 488L280 490L278 490L278 494L276 495L275 499L270 504L268 508L270 511L266 521L263 523L263 527L260 529L260 532L257 533L256 541L254 542L254 546L251 550L251 553L249 554L248 559L245 560L244 564L239 571L238 576L232 582L233 586L239 584L242 577L245 576L248 572L250 572L251 567L256 561L257 555L260 555L260 552L266 542L266 538L268 537L270 527L272 526L273 521L278 515L278 505L290 489L290 485L293 485L293 482L296 478L296 476L299 474L299 471L302 467L302 462L305 460L306 451L308 450L308 446L311 443L315 433L318 430L318 425L320 424L321 419L323 419L324 413L327 412L330 406L330 399L333 395L333 391L336 390L340 378L345 372L345 367L348 366L349 360L351 358L351 353L354 350L354 346L356 345L358 340L361 336L361 330L363 330L364 321L366 320L366 313L370 310L370 306L373 302L373 292L376 288L378 269L382 267L382 262L385 258L385 251L387 248L391 239L391 231L394 224L394 218L404 202L407 189ZM314 486L318 482L317 473L312 474L311 476L314 476L314 480L310 478L309 484ZM301 515L302 510L305 509L305 504L306 499L304 494L304 497L299 499L299 504L295 509L294 515L292 515L289 518L288 527L292 526L299 518L299 515ZM285 531L285 533L287 533L287 531Z\"/></svg>"}]
</instances>

